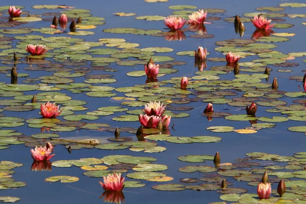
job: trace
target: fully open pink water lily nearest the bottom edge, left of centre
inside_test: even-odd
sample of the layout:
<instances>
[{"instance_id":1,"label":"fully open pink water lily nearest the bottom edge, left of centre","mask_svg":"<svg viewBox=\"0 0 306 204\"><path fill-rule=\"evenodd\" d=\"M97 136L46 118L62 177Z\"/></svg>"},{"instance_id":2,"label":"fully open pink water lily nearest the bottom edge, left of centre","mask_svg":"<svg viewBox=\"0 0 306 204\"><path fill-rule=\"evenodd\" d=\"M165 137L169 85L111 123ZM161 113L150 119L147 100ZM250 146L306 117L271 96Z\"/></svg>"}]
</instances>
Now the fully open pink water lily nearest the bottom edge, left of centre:
<instances>
[{"instance_id":1,"label":"fully open pink water lily nearest the bottom edge, left of centre","mask_svg":"<svg viewBox=\"0 0 306 204\"><path fill-rule=\"evenodd\" d=\"M106 191L122 191L124 179L121 173L108 174L107 176L103 176L104 183L99 181L99 184Z\"/></svg>"}]
</instances>

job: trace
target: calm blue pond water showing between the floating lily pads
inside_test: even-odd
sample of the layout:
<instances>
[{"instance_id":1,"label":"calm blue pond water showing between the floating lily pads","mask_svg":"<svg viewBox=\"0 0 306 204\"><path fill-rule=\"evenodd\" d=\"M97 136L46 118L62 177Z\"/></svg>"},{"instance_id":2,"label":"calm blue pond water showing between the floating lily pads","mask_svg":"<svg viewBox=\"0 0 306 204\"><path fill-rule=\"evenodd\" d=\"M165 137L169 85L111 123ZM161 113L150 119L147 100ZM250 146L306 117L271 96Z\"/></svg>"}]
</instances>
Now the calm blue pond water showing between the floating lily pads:
<instances>
[{"instance_id":1,"label":"calm blue pond water showing between the floating lily pads","mask_svg":"<svg viewBox=\"0 0 306 204\"><path fill-rule=\"evenodd\" d=\"M293 1L295 3L305 3L302 0ZM10 2L2 1L0 6L6 6ZM292 3L292 1L188 1L188 0L169 0L165 3L147 3L143 0L130 0L130 1L97 1L97 0L87 0L87 1L58 1L54 0L52 2L32 0L30 2L24 2L21 0L14 1L15 5L25 6L24 11L29 11L31 14L42 14L44 12L58 12L60 10L38 10L32 9L33 5L40 4L59 4L59 5L68 5L73 6L77 9L88 9L91 11L92 16L104 17L106 18L106 24L97 25L97 28L91 29L89 31L94 32L94 35L88 36L70 36L67 34L58 34L58 35L47 35L41 33L31 33L33 35L44 35L46 37L50 36L68 36L86 39L86 41L97 42L100 38L124 38L126 42L139 43L139 48L144 47L171 47L174 50L170 53L157 53L156 56L170 56L175 58L174 61L183 61L186 62L186 65L175 65L173 68L178 69L179 71L173 74L166 74L164 77L160 77L159 81L169 80L174 77L194 77L195 72L198 71L197 68L194 68L194 59L189 56L179 56L176 55L177 52L194 50L198 46L207 47L208 52L210 52L209 58L215 57L224 57L220 52L214 50L218 45L215 44L217 41L227 40L227 39L240 39L239 34L235 33L233 23L225 22L223 19L232 17L235 15L243 16L244 13L248 12L258 12L256 8L258 7L277 7L281 3ZM155 37L150 35L133 35L133 34L113 34L105 33L104 29L109 28L137 28L137 29L157 29L162 31L167 31L163 21L146 21L146 20L137 20L136 16L143 15L161 15L167 16L170 15L174 10L168 9L172 5L193 5L198 8L219 8L226 9L224 13L217 14L208 14L208 16L217 16L221 17L220 20L213 21L213 24L206 24L207 33L212 34L214 38L192 38L190 35L193 35L192 32L186 32L186 40L182 41L167 41L164 37ZM137 13L136 16L115 16L115 12L133 12ZM284 11L279 13L286 14L304 14L305 7L303 8L290 8L285 7ZM289 18L282 17L285 19L285 23L294 24L294 27L288 29L273 29L275 33L294 33L294 37L289 37L290 41L287 42L273 42L277 45L273 50L281 52L283 54L288 54L292 52L305 52L305 43L304 38L305 34L305 25L302 22L305 22L305 18ZM38 21L30 22L29 24L21 25L21 27L49 27L50 22L47 21ZM250 39L252 33L256 30L252 23L245 23L245 34L242 39ZM185 25L184 28L187 28ZM23 34L22 34L23 35ZM14 37L15 35L6 35L9 37ZM14 40L11 45L15 46L17 40ZM96 47L93 47L96 48ZM108 48L108 47L97 47L97 48ZM100 56L95 56L100 57ZM104 56L105 57L105 56ZM250 62L254 59L259 59L258 56L248 56L242 58L242 62ZM51 60L51 59L49 59ZM136 60L136 59L133 59ZM272 64L268 66L273 69L270 74L268 83L272 83L274 78L277 78L278 81L278 91L300 91L297 85L302 85L301 82L296 82L295 80L289 80L289 77L293 76L303 76L305 69L305 63L302 62L305 60L305 57L297 57L294 60L288 60L287 62L298 63L298 66L295 67L276 67ZM209 70L212 66L224 66L226 62L211 62L207 61ZM160 62L159 64L164 64ZM7 65L1 65L7 66ZM8 65L10 66L10 65ZM90 64L85 65L89 67ZM31 78L38 78L42 75L52 75L54 72L46 71L28 71L24 70L25 67L28 67L26 64L18 64L18 72L28 73ZM111 84L95 84L94 86L111 86L111 87L126 87L126 86L135 86L145 84L146 77L128 77L127 72L143 70L143 65L136 66L119 66L116 63L111 63L108 67L112 69L118 69L116 72L103 72L103 71L93 71L90 74L113 74L113 79L116 79L117 82ZM291 72L278 72L277 69L291 69ZM241 72L246 74L251 74L250 72ZM220 80L233 80L235 79L234 73L220 74ZM75 82L82 83L85 79L84 77L74 78ZM20 79L18 83L22 83ZM10 84L10 78L6 77L5 74L0 74L0 82L6 82ZM265 82L263 79L262 82ZM35 83L34 83L35 84ZM34 85L33 84L33 85ZM173 84L167 84L166 86L172 86ZM234 90L235 91L235 90ZM84 107L89 108L86 111L80 111L74 114L86 114L86 112L97 110L99 107L107 106L120 106L119 102L114 102L110 100L110 97L89 97L84 93L71 93L67 90L59 91L61 93L66 93L68 96L71 96L74 100L85 100L87 104ZM124 93L116 93L116 96L124 96ZM243 92L236 91L238 95L236 96L225 96L226 98L240 97ZM27 91L25 94L35 94L38 91ZM195 96L192 96L195 97ZM12 97L9 97L10 99ZM303 98L299 97L298 99ZM8 99L8 97L0 97L0 99ZM278 100L286 101L287 106L293 104L292 100L296 98L283 96ZM297 105L297 104L295 104ZM152 186L159 184L183 184L179 180L183 178L197 178L200 179L203 176L203 173L184 173L180 172L178 169L187 166L187 165L208 165L214 166L212 161L206 161L206 163L186 163L180 160L177 160L177 157L185 155L215 155L216 151L220 152L221 162L222 163L234 163L237 158L246 157L247 152L267 152L268 154L277 154L281 156L292 156L295 152L305 151L304 144L306 143L306 137L303 133L290 132L288 127L291 126L303 126L304 121L294 121L288 120L286 122L275 122L276 126L272 129L262 129L257 133L253 134L238 134L235 132L229 133L214 133L207 130L207 127L210 126L232 126L235 130L244 129L249 127L251 124L249 121L230 121L225 120L224 118L214 118L212 121L208 121L206 117L202 116L202 112L207 106L207 103L202 101L192 102L190 104L182 105L173 105L173 106L191 106L194 107L191 111L184 111L184 113L189 113L189 117L185 118L172 118L171 125L175 123L174 130L170 129L171 135L177 137L193 137L198 135L207 135L207 136L217 136L221 137L222 141L217 143L192 143L192 144L177 144L170 143L166 141L157 141L158 146L166 147L167 150L158 153L143 153L143 152L134 152L129 149L123 150L101 150L101 149L85 149L81 150L72 150L71 154L68 154L67 149L64 145L57 145L55 147L56 156L52 161L58 160L78 160L80 158L103 158L109 155L130 155L138 157L154 157L157 159L156 164L164 164L169 168L164 172L167 176L174 178L170 182L149 182L141 180L141 182L146 185L141 188L124 188L123 193L125 196L125 203L210 203L221 201L219 196L221 194L216 191L194 191L194 190L184 190L184 191L157 191L152 189ZM0 107L0 108L4 108ZM129 110L140 109L140 107L126 107ZM266 112L266 109L272 109L274 107L258 106L256 113L257 117L269 117L272 116L284 116L281 113L269 113ZM245 114L245 107L235 107L229 106L227 104L214 104L214 109L216 112L228 112L232 114ZM35 109L30 112L12 112L4 111L3 113L6 116L10 117L21 117L24 119L29 118L39 118L39 110ZM180 113L179 111L173 111L175 113ZM94 121L86 122L98 122L98 123L107 123L113 127L134 127L138 128L140 126L139 121L136 122L119 122L112 120L113 117L124 115L123 112L115 113L110 116L100 116L99 119ZM64 120L62 117L58 117L61 120ZM19 127L3 127L2 130L16 130L24 135L32 135L40 133L40 129L33 129L28 127L27 124ZM72 132L59 132L61 137L77 137L77 136L88 136L88 138L99 138L102 139L104 143L107 143L107 138L113 137L112 132L107 131L95 131L95 130L84 130L77 129ZM135 141L137 138L134 134L122 132L122 137L133 137ZM14 169L15 173L13 178L15 181L25 182L27 186L17 189L7 189L1 190L0 196L14 196L21 198L19 203L101 203L102 199L98 199L99 196L103 193L103 188L99 185L98 181L102 181L102 178L94 178L83 175L85 172L79 167L71 168L59 168L53 167L52 171L31 171L32 158L30 157L30 148L24 145L10 145L10 148L1 150L0 160L4 161L13 161L16 163L22 163L22 167L17 167ZM267 161L268 162L268 161ZM272 163L272 162L271 162ZM271 164L273 165L273 164ZM277 164L280 165L280 164ZM286 165L286 164L284 164ZM250 168L244 169L249 170ZM127 173L131 173L133 170L129 170ZM126 175L124 173L123 175ZM77 176L80 178L80 181L75 183L48 183L45 182L49 176L55 175L70 175ZM126 181L132 181L129 178L126 178ZM134 180L133 180L134 181ZM140 181L140 180L139 180ZM233 187L236 188L246 188L249 193L256 193L257 187L248 186L247 182L238 182L232 177L228 177L228 182L233 183ZM198 184L198 183L197 183ZM186 184L186 185L197 185L197 184ZM185 185L185 184L184 184ZM272 187L275 189L275 184Z\"/></svg>"}]
</instances>

